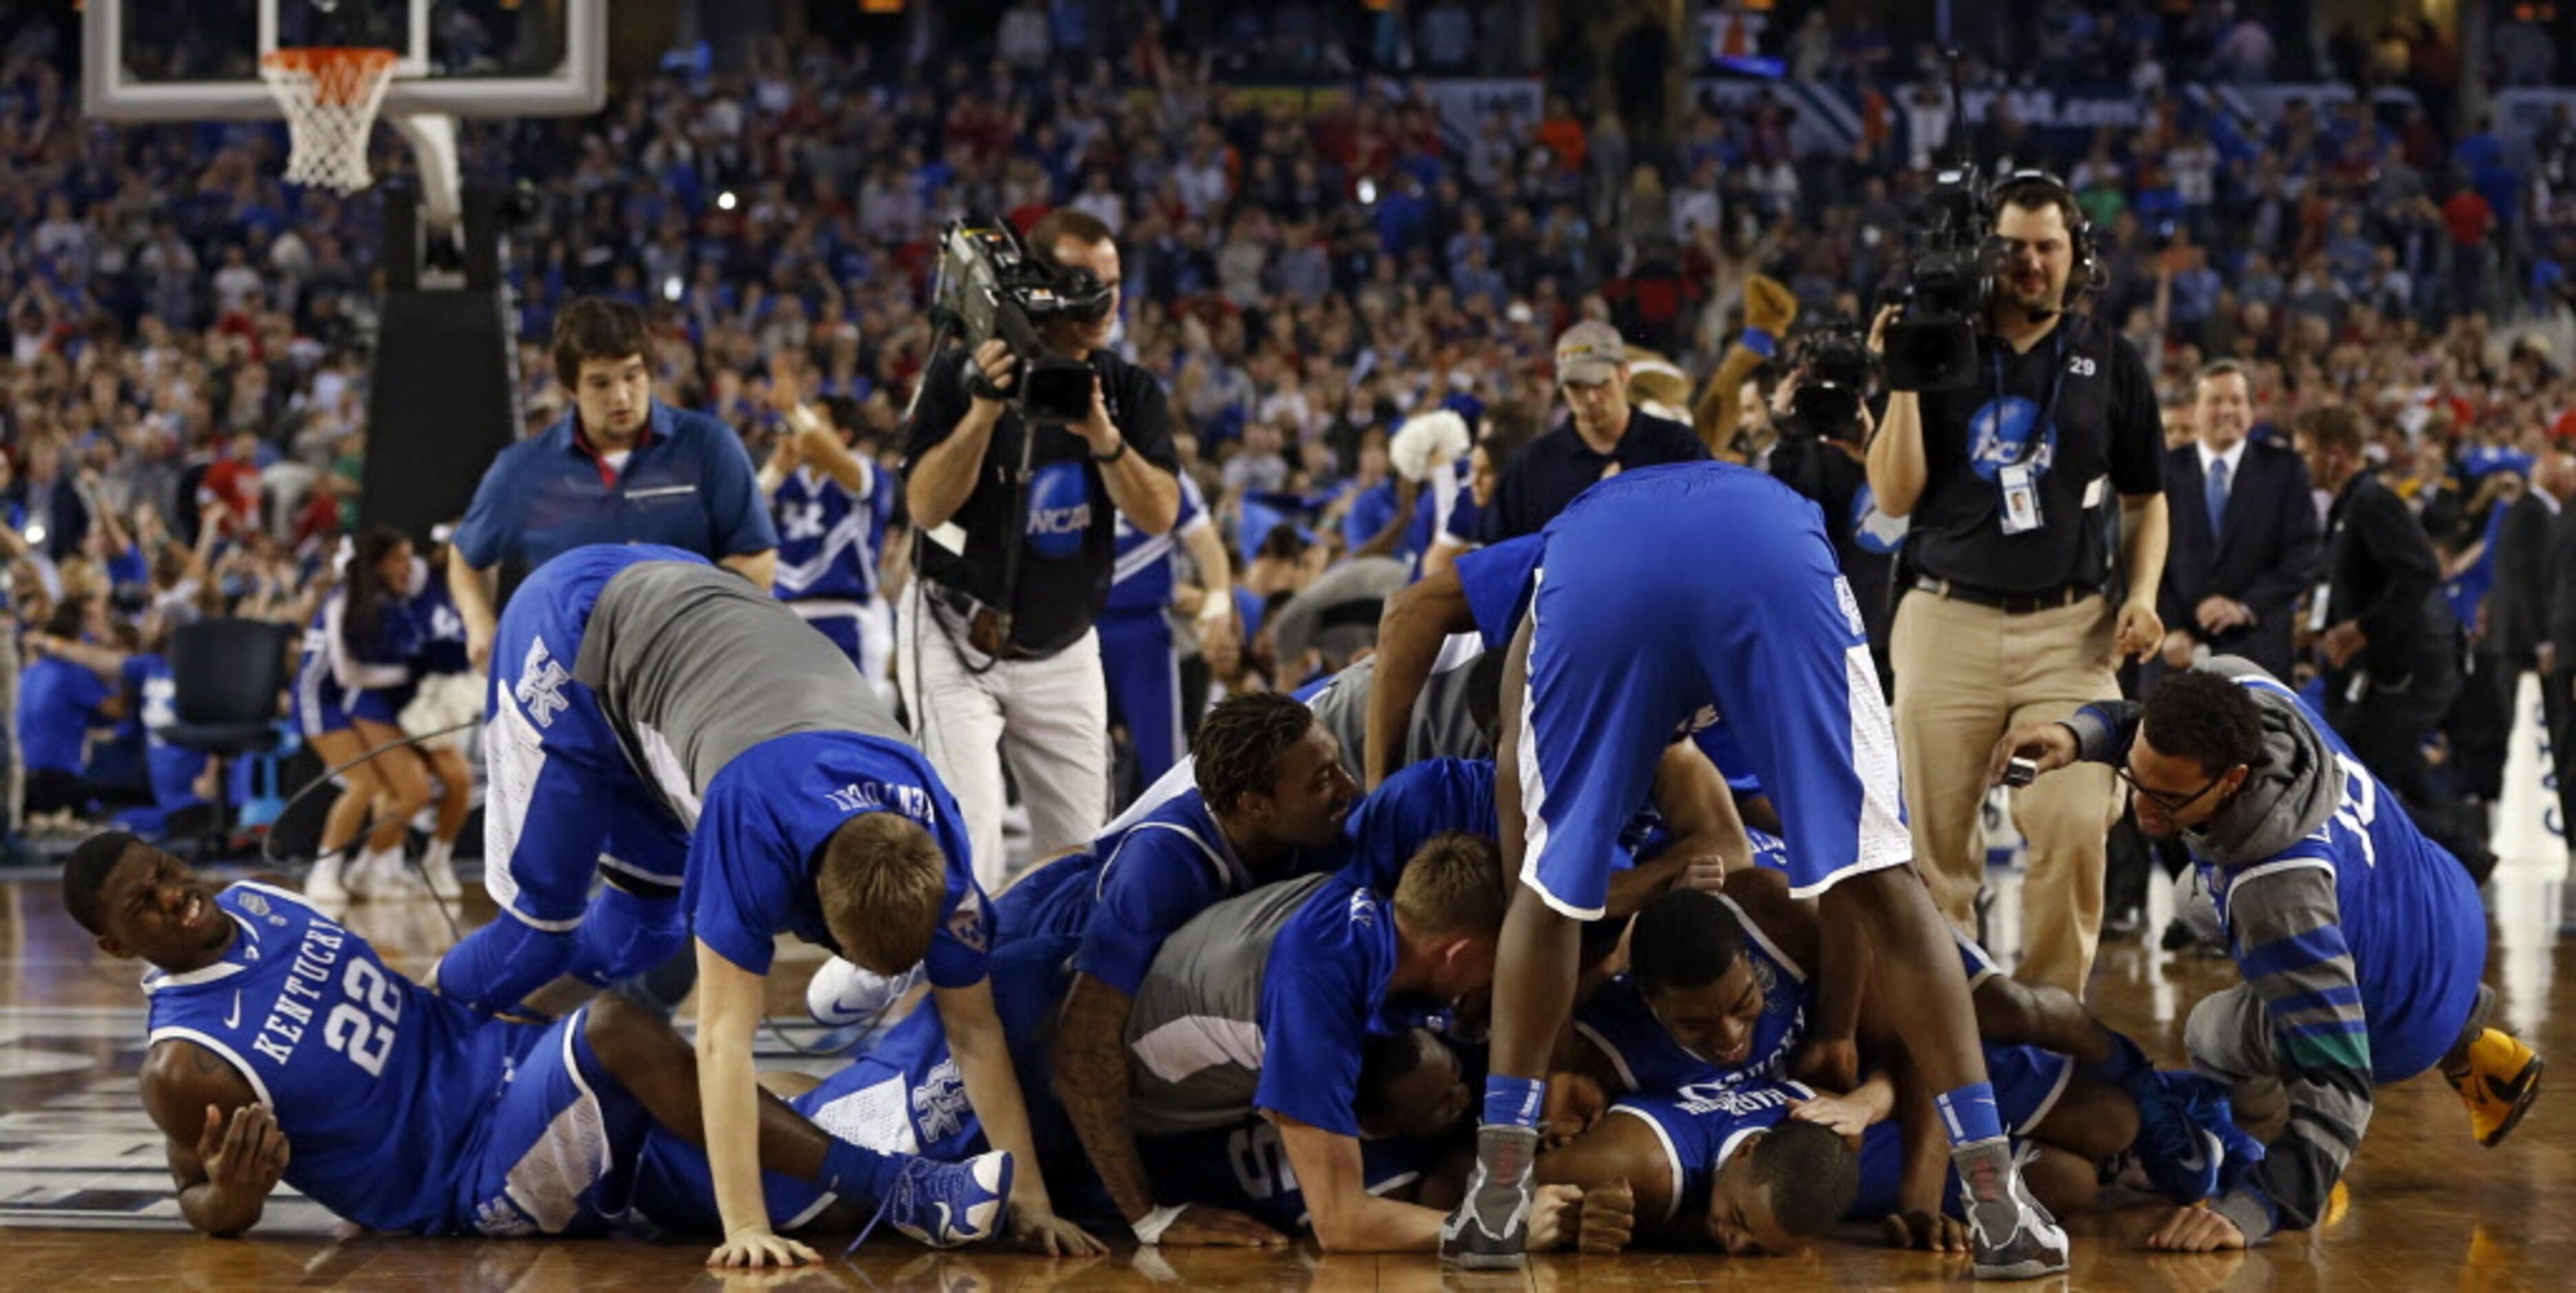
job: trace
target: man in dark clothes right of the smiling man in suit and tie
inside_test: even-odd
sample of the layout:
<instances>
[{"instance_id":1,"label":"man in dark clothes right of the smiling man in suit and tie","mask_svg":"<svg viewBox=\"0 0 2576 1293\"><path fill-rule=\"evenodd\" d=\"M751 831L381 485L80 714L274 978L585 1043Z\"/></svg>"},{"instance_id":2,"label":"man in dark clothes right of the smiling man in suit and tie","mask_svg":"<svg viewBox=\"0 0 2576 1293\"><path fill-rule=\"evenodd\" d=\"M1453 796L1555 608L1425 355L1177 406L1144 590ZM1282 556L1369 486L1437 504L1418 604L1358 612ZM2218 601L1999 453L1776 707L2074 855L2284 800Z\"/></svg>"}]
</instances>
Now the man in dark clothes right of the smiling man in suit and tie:
<instances>
[{"instance_id":1,"label":"man in dark clothes right of the smiling man in suit and tie","mask_svg":"<svg viewBox=\"0 0 2576 1293\"><path fill-rule=\"evenodd\" d=\"M2424 737L2460 695L2460 623L2442 603L2442 562L2424 525L2362 458L2362 415L2347 404L2298 420L2308 477L2334 495L2326 515L2326 605L2311 608L2326 665L2326 721L2439 845L2476 878L2496 858L2437 796Z\"/></svg>"}]
</instances>

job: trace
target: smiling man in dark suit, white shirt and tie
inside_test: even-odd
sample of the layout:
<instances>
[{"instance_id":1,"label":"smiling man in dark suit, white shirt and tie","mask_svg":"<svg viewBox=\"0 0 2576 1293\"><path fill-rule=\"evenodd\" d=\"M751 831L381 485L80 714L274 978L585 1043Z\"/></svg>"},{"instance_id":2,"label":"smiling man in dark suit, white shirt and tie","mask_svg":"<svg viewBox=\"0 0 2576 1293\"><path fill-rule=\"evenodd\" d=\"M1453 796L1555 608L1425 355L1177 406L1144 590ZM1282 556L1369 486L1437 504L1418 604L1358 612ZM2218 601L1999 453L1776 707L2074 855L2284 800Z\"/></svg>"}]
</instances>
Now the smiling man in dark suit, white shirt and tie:
<instances>
[{"instance_id":1,"label":"smiling man in dark suit, white shirt and tie","mask_svg":"<svg viewBox=\"0 0 2576 1293\"><path fill-rule=\"evenodd\" d=\"M2205 644L2290 677L2293 610L2316 580L2321 546L2308 469L2298 453L2246 438L2254 389L2233 358L2200 368L2192 425L2197 440L2164 453L2174 546L2156 595L2161 665L2187 670Z\"/></svg>"}]
</instances>

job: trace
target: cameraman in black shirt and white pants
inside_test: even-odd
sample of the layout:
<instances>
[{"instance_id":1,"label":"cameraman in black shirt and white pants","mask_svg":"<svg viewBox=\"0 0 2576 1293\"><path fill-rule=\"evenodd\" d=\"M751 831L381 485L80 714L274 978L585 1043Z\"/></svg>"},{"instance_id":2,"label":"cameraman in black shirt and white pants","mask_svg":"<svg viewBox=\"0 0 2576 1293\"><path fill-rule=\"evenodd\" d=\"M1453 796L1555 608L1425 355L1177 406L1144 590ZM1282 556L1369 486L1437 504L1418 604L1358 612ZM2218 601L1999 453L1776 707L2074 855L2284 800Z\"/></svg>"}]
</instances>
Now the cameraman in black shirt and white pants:
<instances>
[{"instance_id":1,"label":"cameraman in black shirt and white pants","mask_svg":"<svg viewBox=\"0 0 2576 1293\"><path fill-rule=\"evenodd\" d=\"M1002 858L1002 755L1028 801L1030 855L1087 842L1108 819L1110 721L1092 618L1110 587L1115 507L1144 533L1180 515L1172 410L1144 368L1108 350L1118 245L1082 211L1028 232L1033 260L1079 281L1084 312L1038 322L1054 358L1092 366L1090 415L1038 425L1012 402L1020 355L987 340L933 358L912 410L904 502L920 572L896 646L922 750L966 814L976 878ZM1023 446L1025 435L1036 443ZM1028 479L1015 479L1028 461ZM1012 515L1025 497L1025 515ZM1012 546L1018 543L1018 556Z\"/></svg>"}]
</instances>

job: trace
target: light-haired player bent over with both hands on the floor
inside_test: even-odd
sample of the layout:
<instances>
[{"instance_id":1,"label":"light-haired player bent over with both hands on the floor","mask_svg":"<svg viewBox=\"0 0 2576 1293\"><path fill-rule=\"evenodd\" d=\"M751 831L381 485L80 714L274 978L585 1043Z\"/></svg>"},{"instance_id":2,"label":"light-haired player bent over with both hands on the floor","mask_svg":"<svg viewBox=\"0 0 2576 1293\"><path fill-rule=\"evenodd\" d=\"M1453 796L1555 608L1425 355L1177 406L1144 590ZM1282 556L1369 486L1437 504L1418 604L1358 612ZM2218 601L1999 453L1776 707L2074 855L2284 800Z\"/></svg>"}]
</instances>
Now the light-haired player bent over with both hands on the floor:
<instances>
[{"instance_id":1,"label":"light-haired player bent over with both hands on the floor","mask_svg":"<svg viewBox=\"0 0 2576 1293\"><path fill-rule=\"evenodd\" d=\"M734 1218L716 1265L819 1260L760 1223L747 1149L781 932L886 974L925 963L994 1144L1025 1162L963 819L850 657L791 608L680 549L567 551L500 618L484 760L484 886L502 917L433 979L507 1010L538 986L639 974L696 938L706 1144ZM863 917L824 920L827 901ZM1103 1249L1054 1213L1036 1172L1010 1226L1043 1252Z\"/></svg>"}]
</instances>

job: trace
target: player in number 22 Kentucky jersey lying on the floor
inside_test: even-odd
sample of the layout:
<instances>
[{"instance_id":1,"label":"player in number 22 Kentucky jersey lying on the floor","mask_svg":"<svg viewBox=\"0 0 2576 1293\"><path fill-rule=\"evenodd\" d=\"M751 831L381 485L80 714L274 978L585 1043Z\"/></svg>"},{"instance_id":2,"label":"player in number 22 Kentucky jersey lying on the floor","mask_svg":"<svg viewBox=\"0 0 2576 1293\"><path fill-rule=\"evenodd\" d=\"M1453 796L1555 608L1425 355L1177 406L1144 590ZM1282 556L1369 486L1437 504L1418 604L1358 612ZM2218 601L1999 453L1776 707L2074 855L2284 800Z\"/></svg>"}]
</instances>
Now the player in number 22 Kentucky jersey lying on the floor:
<instances>
[{"instance_id":1,"label":"player in number 22 Kentucky jersey lying on the floor","mask_svg":"<svg viewBox=\"0 0 2576 1293\"><path fill-rule=\"evenodd\" d=\"M255 1226L283 1180L376 1231L598 1234L626 1216L652 1128L703 1136L688 1043L616 997L551 1025L492 1020L299 894L216 889L121 832L72 853L62 896L100 950L152 966L142 1097L198 1231ZM750 1131L778 1177L925 1244L1002 1229L1010 1154L881 1154L768 1097Z\"/></svg>"}]
</instances>

